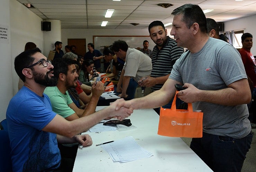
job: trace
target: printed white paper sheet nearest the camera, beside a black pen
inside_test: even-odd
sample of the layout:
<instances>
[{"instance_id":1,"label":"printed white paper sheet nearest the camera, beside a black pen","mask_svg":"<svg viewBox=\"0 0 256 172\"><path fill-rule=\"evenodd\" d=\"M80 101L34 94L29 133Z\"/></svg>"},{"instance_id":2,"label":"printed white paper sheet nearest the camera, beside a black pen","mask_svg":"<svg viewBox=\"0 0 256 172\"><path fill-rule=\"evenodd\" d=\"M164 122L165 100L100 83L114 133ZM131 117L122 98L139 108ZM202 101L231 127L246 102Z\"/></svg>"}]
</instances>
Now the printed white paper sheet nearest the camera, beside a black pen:
<instances>
[{"instance_id":1,"label":"printed white paper sheet nearest the camera, beside a black pen","mask_svg":"<svg viewBox=\"0 0 256 172\"><path fill-rule=\"evenodd\" d=\"M128 162L153 156L151 152L141 148L132 136L103 144L113 161Z\"/></svg>"}]
</instances>

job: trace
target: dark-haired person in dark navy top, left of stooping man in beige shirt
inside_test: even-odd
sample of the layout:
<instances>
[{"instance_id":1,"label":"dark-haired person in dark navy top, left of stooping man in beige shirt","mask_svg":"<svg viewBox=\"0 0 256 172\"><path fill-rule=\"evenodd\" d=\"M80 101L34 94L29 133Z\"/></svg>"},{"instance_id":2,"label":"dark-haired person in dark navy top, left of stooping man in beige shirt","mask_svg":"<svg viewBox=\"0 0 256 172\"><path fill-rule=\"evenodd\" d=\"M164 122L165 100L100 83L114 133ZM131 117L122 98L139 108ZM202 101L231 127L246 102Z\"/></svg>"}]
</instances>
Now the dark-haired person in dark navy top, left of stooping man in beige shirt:
<instances>
[{"instance_id":1,"label":"dark-haired person in dark navy top, left of stooping man in beige shirt","mask_svg":"<svg viewBox=\"0 0 256 172\"><path fill-rule=\"evenodd\" d=\"M124 68L125 62L118 58L115 53L111 50L112 45L106 47L103 50L103 58L106 62L110 62L113 64L113 71L111 74L103 76L102 78L115 78L119 80L122 69Z\"/></svg>"}]
</instances>

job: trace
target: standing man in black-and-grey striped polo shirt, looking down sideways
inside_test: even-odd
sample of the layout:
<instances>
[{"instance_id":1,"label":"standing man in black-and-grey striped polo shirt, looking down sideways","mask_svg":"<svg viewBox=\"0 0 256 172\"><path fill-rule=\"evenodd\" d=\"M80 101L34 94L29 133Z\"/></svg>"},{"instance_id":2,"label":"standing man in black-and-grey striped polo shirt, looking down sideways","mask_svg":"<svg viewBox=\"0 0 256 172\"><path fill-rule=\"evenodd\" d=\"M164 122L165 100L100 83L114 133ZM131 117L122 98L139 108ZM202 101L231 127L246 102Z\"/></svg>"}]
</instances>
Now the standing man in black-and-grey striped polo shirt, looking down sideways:
<instances>
[{"instance_id":1,"label":"standing man in black-and-grey striped polo shirt, looking down sideways","mask_svg":"<svg viewBox=\"0 0 256 172\"><path fill-rule=\"evenodd\" d=\"M161 21L153 21L148 26L150 38L156 44L152 52L152 72L150 77L143 81L141 86L151 87L146 88L144 96L162 88L165 81L168 79L173 65L181 54L184 53L182 47L178 47L174 39L167 36L167 30ZM146 93L147 92L147 93ZM166 108L170 108L172 100ZM158 110L155 109L156 111ZM159 114L159 112L157 112Z\"/></svg>"}]
</instances>

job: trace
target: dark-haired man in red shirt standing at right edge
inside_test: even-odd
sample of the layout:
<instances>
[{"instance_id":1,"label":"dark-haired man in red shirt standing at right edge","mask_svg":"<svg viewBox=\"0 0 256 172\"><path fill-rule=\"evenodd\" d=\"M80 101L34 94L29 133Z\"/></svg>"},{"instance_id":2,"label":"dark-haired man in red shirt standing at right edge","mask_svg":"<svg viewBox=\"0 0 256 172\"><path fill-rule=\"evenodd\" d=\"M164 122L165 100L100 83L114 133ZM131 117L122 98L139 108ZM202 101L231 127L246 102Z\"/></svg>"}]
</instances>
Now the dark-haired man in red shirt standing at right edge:
<instances>
[{"instance_id":1,"label":"dark-haired man in red shirt standing at right edge","mask_svg":"<svg viewBox=\"0 0 256 172\"><path fill-rule=\"evenodd\" d=\"M252 90L252 98L256 98L256 62L252 52L250 52L251 48L253 47L253 35L250 33L244 33L241 36L241 40L243 47L239 50L239 53L242 57L242 61L245 66L245 72L248 77L248 82L249 84L251 83L250 86ZM254 102L253 104L255 104ZM249 104L248 108L249 111L252 110L254 112L253 117L252 119L250 119L250 121L252 122L252 128L256 128L255 110L250 109L255 108L255 105L250 106Z\"/></svg>"}]
</instances>

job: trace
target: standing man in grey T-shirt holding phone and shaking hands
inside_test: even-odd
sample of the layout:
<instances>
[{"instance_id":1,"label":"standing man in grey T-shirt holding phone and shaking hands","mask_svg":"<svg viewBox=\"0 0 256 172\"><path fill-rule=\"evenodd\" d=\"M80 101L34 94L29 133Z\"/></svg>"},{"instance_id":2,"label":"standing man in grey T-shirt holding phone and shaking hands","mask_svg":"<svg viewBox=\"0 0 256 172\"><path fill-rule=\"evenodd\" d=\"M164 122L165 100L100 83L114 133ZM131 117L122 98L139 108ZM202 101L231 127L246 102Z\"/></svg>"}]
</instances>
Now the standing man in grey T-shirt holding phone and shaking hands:
<instances>
[{"instance_id":1,"label":"standing man in grey T-shirt holding phone and shaking hands","mask_svg":"<svg viewBox=\"0 0 256 172\"><path fill-rule=\"evenodd\" d=\"M192 138L190 148L213 171L241 171L253 138L246 106L251 93L241 57L230 44L207 36L206 18L198 5L185 4L172 14L171 35L177 46L189 51L176 61L160 90L118 100L116 110L165 105L175 94L174 85L184 84L186 89L177 97L203 112L203 137Z\"/></svg>"}]
</instances>

